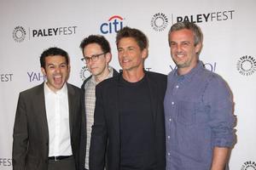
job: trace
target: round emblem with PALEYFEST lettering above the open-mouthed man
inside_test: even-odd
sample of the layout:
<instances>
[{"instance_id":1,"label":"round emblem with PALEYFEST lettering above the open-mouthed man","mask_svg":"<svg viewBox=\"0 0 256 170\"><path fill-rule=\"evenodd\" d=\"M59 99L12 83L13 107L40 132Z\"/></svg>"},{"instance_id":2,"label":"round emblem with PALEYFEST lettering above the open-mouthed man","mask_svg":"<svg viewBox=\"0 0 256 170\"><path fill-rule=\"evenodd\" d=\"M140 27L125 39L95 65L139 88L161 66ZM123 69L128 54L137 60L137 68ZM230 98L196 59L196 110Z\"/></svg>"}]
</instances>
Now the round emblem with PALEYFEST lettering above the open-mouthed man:
<instances>
[{"instance_id":1,"label":"round emblem with PALEYFEST lettering above the open-mouthed man","mask_svg":"<svg viewBox=\"0 0 256 170\"><path fill-rule=\"evenodd\" d=\"M78 26L61 26L61 27L51 27L43 29L33 29L25 28L24 26L16 26L13 31L13 38L15 42L23 42L28 38L38 37L55 37L55 36L70 36L76 34Z\"/></svg>"}]
</instances>

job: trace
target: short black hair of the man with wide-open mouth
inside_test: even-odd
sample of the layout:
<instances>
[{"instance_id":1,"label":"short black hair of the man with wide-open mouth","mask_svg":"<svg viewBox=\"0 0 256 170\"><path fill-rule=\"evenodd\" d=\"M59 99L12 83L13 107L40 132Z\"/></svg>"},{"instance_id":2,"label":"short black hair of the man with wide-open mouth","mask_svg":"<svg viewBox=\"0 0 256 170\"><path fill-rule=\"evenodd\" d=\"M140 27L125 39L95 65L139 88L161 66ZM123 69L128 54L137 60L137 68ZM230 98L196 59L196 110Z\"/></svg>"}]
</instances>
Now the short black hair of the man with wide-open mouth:
<instances>
[{"instance_id":1,"label":"short black hair of the man with wide-open mouth","mask_svg":"<svg viewBox=\"0 0 256 170\"><path fill-rule=\"evenodd\" d=\"M40 65L45 69L45 58L48 56L61 55L66 59L67 65L69 64L69 56L66 51L61 48L48 48L40 56Z\"/></svg>"}]
</instances>

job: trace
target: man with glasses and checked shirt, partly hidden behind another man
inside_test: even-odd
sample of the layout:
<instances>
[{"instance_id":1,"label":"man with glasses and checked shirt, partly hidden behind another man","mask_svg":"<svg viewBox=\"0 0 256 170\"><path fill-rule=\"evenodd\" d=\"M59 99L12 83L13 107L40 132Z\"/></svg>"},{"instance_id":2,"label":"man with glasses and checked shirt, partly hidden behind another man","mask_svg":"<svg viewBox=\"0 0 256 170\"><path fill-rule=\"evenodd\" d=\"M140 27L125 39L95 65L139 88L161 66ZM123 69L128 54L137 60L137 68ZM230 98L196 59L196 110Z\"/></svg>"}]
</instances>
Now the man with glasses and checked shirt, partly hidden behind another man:
<instances>
[{"instance_id":1,"label":"man with glasses and checked shirt, partly hidden behind another man","mask_svg":"<svg viewBox=\"0 0 256 170\"><path fill-rule=\"evenodd\" d=\"M96 85L105 79L118 76L118 71L111 67L109 62L112 59L111 48L108 40L101 35L90 35L85 37L80 44L82 49L84 64L90 71L90 77L86 78L81 86L84 94L85 116L86 122L84 128L86 132L81 144L81 150L84 158L81 163L84 164L84 170L89 169L89 148L90 148L90 133L93 125L93 117L96 102ZM87 150L86 150L87 149Z\"/></svg>"}]
</instances>

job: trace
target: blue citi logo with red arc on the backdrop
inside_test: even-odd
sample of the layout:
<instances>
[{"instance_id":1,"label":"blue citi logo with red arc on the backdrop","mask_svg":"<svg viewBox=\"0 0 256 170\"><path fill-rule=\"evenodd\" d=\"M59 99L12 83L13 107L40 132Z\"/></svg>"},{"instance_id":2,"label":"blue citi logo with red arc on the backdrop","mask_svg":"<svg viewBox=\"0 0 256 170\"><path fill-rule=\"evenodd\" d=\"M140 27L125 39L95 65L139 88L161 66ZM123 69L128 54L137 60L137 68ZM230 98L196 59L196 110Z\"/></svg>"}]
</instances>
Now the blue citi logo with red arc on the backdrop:
<instances>
[{"instance_id":1,"label":"blue citi logo with red arc on the backdrop","mask_svg":"<svg viewBox=\"0 0 256 170\"><path fill-rule=\"evenodd\" d=\"M112 34L123 28L123 18L119 15L113 15L108 22L103 23L100 27L102 34Z\"/></svg>"}]
</instances>

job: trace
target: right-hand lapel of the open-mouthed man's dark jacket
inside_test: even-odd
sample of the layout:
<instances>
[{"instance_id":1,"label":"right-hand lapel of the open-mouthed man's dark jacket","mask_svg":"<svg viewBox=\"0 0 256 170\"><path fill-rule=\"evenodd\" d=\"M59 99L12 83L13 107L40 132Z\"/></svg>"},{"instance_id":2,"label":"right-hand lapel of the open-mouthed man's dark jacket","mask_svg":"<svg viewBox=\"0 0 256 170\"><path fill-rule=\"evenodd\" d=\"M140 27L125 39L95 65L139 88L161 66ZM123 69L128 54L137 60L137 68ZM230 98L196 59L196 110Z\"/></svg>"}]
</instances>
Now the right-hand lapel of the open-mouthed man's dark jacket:
<instances>
[{"instance_id":1,"label":"right-hand lapel of the open-mouthed man's dark jacket","mask_svg":"<svg viewBox=\"0 0 256 170\"><path fill-rule=\"evenodd\" d=\"M67 98L68 98L68 112L69 112L69 130L70 130L70 137L72 137L72 132L73 132L73 120L75 116L75 91L73 87L67 83Z\"/></svg>"}]
</instances>

